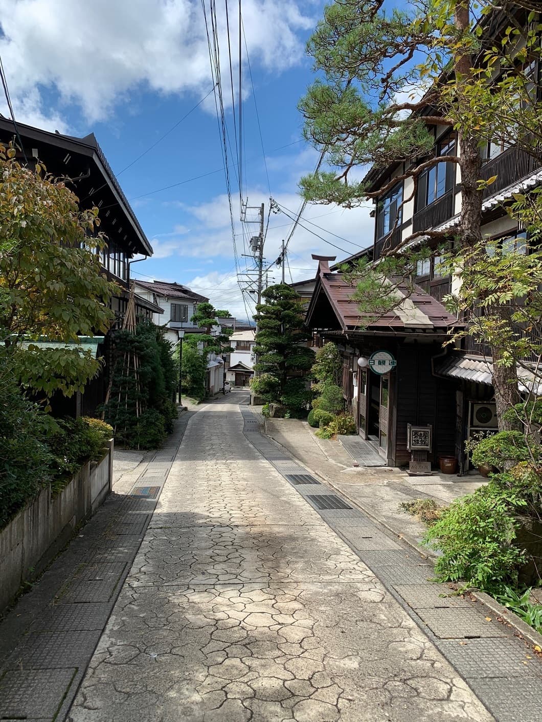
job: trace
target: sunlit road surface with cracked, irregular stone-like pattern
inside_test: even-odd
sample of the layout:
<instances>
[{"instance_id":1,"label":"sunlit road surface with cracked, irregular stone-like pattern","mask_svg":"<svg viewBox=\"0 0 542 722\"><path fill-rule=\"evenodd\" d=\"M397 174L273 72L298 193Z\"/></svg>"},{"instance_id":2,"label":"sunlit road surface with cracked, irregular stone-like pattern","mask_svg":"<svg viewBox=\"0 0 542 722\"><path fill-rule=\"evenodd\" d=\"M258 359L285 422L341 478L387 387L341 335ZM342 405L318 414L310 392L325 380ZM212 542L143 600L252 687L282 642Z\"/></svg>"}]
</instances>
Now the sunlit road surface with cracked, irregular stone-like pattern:
<instances>
[{"instance_id":1,"label":"sunlit road surface with cracked, irregular stone-like pattern","mask_svg":"<svg viewBox=\"0 0 542 722\"><path fill-rule=\"evenodd\" d=\"M69 719L491 721L234 401L190 420Z\"/></svg>"}]
</instances>

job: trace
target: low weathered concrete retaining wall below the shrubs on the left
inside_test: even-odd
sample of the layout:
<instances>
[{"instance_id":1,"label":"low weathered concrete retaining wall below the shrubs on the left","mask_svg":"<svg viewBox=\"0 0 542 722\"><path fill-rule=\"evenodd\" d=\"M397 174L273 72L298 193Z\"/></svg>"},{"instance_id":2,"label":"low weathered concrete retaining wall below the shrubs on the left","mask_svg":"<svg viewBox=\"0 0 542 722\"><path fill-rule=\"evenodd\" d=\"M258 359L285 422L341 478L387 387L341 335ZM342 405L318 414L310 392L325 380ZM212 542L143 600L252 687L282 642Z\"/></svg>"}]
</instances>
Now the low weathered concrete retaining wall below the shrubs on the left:
<instances>
[{"instance_id":1,"label":"low weathered concrete retaining wall below the shrubs on the left","mask_svg":"<svg viewBox=\"0 0 542 722\"><path fill-rule=\"evenodd\" d=\"M113 479L113 440L98 464L87 462L55 497L41 490L0 531L0 613L11 604L22 583L43 572L72 538L79 523L93 515Z\"/></svg>"}]
</instances>

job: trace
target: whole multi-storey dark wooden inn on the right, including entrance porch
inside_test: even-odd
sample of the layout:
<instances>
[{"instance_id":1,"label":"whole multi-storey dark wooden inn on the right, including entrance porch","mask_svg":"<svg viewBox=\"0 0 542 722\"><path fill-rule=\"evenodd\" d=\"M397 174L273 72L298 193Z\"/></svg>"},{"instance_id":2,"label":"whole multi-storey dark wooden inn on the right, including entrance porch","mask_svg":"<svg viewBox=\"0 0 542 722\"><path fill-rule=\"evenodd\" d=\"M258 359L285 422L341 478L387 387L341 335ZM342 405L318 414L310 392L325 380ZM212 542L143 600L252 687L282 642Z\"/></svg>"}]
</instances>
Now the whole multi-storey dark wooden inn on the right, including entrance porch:
<instances>
[{"instance_id":1,"label":"whole multi-storey dark wooden inn on the right, including entrance porch","mask_svg":"<svg viewBox=\"0 0 542 722\"><path fill-rule=\"evenodd\" d=\"M530 71L538 85L541 68L532 64ZM434 128L434 155L458 155L455 132L447 126ZM499 144L488 144L484 155L481 178L496 176L496 180L483 191L483 236L499 240L504 249L528 253L527 234L509 217L506 206L515 193L528 193L541 185L542 162L522 149ZM404 162L371 168L366 175L368 190L378 192L406 170ZM452 242L462 200L457 164L443 162L426 170L418 180L416 195L400 208L412 193L413 180L407 178L375 199L372 243L343 263L361 256L377 262L413 233L426 230L449 230ZM436 243L428 237L416 243L432 245L435 252ZM319 261L319 269L306 321L317 345L331 340L340 348L345 402L356 418L359 435L374 445L387 464L402 466L411 458L408 425L431 427L428 460L436 464L439 456L456 456L460 472L466 472L465 439L473 432L496 430L496 409L490 350L470 336L460 348L443 345L460 325L441 303L453 292L455 279L442 274L438 256L418 262L414 291L405 290L399 308L367 324L351 299L353 287L345 282L338 265L329 265L335 258L313 258ZM379 375L369 365L358 365L359 359L363 363L378 351L387 351L395 359L390 373Z\"/></svg>"}]
</instances>

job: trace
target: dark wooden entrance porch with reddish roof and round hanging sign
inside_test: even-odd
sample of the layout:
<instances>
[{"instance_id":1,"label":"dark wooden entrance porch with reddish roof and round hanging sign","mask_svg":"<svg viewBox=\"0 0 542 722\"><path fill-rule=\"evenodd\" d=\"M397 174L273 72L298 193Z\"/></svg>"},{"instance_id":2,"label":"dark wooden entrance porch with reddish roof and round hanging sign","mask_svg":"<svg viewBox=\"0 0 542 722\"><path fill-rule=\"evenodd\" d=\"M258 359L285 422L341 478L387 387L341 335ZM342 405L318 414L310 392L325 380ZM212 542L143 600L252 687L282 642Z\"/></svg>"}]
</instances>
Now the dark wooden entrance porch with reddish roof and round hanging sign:
<instances>
[{"instance_id":1,"label":"dark wooden entrance porch with reddish roof and round hanging sign","mask_svg":"<svg viewBox=\"0 0 542 722\"><path fill-rule=\"evenodd\" d=\"M409 424L431 426L430 461L455 453L455 387L433 374L444 355L442 342L457 326L455 316L417 286L403 289L395 310L364 316L351 299L355 289L342 273L330 271L335 258L313 258L319 267L306 323L343 355L345 400L361 438L390 466L410 461ZM391 362L379 365L384 359Z\"/></svg>"}]
</instances>

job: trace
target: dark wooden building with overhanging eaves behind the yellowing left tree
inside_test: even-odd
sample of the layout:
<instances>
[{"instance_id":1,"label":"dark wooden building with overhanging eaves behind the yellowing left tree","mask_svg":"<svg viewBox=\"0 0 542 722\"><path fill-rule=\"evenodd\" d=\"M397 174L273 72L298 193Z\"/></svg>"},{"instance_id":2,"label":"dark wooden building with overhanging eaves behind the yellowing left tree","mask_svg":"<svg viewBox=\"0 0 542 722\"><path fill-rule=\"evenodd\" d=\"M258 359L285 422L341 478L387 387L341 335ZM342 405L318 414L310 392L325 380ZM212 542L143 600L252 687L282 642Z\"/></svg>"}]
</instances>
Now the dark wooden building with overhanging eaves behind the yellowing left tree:
<instances>
[{"instance_id":1,"label":"dark wooden building with overhanging eaves behind the yellowing left tree","mask_svg":"<svg viewBox=\"0 0 542 722\"><path fill-rule=\"evenodd\" d=\"M17 129L20 135L16 142L17 160L28 161L30 167L39 160L48 173L64 179L66 186L77 195L81 209L97 206L100 230L106 235L107 245L100 253L100 264L118 288L110 302L116 322L110 333L95 344L97 355L103 357L106 364L102 373L87 384L85 393L78 392L72 399L65 399L59 393L53 399L55 413L90 415L106 396L111 333L121 328L124 321L129 299L130 259L137 255L152 256L152 247L93 133L75 138L23 123L17 123ZM13 122L0 116L0 143L7 145L14 136ZM152 318L161 311L153 299L136 295L135 303L139 319Z\"/></svg>"}]
</instances>

